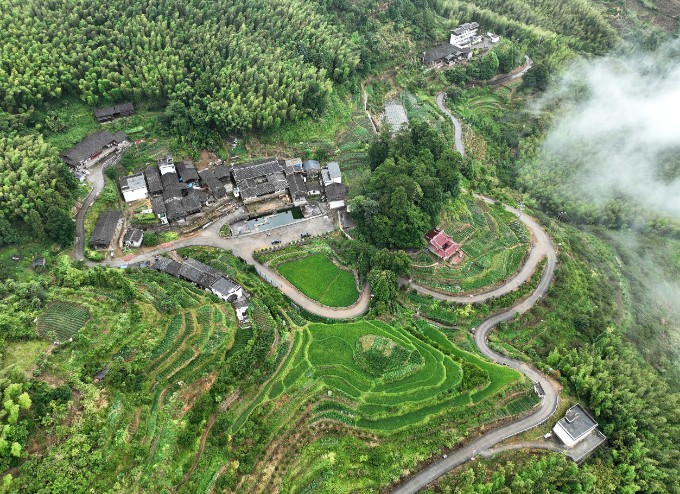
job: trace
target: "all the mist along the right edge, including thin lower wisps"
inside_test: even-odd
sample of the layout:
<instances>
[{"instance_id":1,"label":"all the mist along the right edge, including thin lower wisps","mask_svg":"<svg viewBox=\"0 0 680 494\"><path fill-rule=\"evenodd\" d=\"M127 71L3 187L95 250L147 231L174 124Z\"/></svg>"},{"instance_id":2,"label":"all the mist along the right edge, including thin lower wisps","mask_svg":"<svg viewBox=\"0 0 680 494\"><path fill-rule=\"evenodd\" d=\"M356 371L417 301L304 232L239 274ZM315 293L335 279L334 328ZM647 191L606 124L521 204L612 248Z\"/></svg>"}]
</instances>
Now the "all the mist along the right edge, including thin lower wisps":
<instances>
[{"instance_id":1,"label":"all the mist along the right edge, including thin lower wisps","mask_svg":"<svg viewBox=\"0 0 680 494\"><path fill-rule=\"evenodd\" d=\"M635 230L655 216L680 221L680 42L575 62L536 109L555 116L542 192L602 217L613 201L633 212L633 229L605 235L631 281L630 336L651 363L680 370L680 247Z\"/></svg>"}]
</instances>

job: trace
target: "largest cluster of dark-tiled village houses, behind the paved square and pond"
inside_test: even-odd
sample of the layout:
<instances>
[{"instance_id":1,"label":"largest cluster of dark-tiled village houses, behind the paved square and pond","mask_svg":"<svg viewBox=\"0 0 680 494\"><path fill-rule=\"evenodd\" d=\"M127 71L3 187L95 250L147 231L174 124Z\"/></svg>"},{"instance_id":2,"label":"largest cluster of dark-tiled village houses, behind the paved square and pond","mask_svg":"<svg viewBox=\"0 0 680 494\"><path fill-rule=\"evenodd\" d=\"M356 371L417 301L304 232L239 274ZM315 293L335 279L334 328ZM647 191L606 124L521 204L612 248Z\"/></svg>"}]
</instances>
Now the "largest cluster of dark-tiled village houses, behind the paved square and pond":
<instances>
[{"instance_id":1,"label":"largest cluster of dark-tiled village houses, behind the paved square and pond","mask_svg":"<svg viewBox=\"0 0 680 494\"><path fill-rule=\"evenodd\" d=\"M159 158L154 166L121 177L119 187L126 203L148 201L147 206L141 206L148 208L141 214L153 214L157 224L165 225L193 223L203 216L203 208L216 208L234 199L244 205L272 199L283 199L293 206L325 201L334 210L344 208L348 198L337 162L322 166L318 161L299 158L267 158L237 166L216 160L197 171L193 162L176 163L168 155ZM120 211L102 212L90 237L90 247L112 248L123 226ZM130 227L123 247L140 247L143 238L141 229Z\"/></svg>"}]
</instances>

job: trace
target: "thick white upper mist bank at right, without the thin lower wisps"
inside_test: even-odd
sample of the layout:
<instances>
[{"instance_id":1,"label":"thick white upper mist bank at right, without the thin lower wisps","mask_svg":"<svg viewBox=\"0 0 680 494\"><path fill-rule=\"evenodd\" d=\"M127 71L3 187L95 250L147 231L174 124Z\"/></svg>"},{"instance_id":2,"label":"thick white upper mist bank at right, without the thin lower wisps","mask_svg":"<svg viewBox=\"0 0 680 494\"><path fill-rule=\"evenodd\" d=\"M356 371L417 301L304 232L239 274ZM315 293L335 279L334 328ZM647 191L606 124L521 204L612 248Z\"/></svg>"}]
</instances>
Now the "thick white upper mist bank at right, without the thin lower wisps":
<instances>
[{"instance_id":1,"label":"thick white upper mist bank at right, without the thin lower wisps","mask_svg":"<svg viewBox=\"0 0 680 494\"><path fill-rule=\"evenodd\" d=\"M571 65L539 107L562 104L543 154L573 166L573 195L680 218L680 43Z\"/></svg>"}]
</instances>

